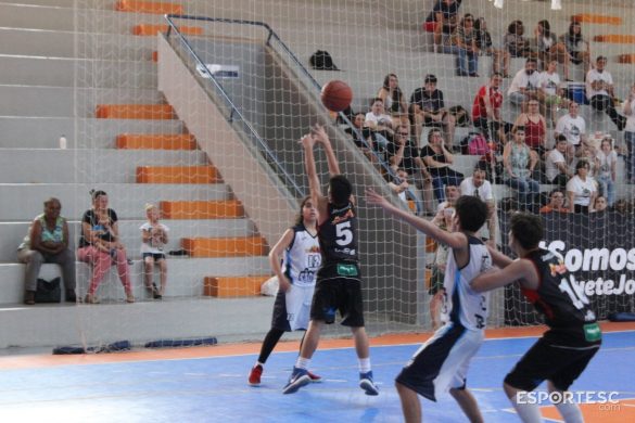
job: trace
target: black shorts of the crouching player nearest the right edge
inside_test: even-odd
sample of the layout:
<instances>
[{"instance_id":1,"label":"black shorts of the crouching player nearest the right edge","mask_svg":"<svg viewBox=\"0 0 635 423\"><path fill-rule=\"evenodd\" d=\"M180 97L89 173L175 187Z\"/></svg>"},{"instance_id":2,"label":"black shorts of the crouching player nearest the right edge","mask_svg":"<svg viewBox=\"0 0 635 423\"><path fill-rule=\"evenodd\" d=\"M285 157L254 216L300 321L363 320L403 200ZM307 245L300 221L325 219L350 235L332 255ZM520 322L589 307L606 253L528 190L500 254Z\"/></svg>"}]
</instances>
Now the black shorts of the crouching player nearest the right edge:
<instances>
[{"instance_id":1,"label":"black shorts of the crouching player nearest the right edge","mask_svg":"<svg viewBox=\"0 0 635 423\"><path fill-rule=\"evenodd\" d=\"M560 347L543 336L520 359L505 377L505 383L526 392L543 381L551 381L559 390L567 390L584 371L599 344L586 347Z\"/></svg>"}]
</instances>

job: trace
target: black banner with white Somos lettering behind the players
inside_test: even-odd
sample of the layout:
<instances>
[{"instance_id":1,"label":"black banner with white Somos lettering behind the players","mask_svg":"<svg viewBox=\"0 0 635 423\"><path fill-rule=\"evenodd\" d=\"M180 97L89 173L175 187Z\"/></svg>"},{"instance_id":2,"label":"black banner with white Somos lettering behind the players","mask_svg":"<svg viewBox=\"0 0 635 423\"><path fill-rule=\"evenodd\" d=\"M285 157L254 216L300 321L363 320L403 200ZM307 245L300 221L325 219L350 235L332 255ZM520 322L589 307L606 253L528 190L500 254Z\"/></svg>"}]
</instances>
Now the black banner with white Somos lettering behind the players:
<instances>
[{"instance_id":1,"label":"black banner with white Somos lettering behind the players","mask_svg":"<svg viewBox=\"0 0 635 423\"><path fill-rule=\"evenodd\" d=\"M544 214L542 246L560 254L572 274L571 285L586 296L600 320L609 313L635 311L635 218L619 213ZM504 252L509 215L499 219ZM513 284L505 287L505 324L542 323L533 306Z\"/></svg>"}]
</instances>

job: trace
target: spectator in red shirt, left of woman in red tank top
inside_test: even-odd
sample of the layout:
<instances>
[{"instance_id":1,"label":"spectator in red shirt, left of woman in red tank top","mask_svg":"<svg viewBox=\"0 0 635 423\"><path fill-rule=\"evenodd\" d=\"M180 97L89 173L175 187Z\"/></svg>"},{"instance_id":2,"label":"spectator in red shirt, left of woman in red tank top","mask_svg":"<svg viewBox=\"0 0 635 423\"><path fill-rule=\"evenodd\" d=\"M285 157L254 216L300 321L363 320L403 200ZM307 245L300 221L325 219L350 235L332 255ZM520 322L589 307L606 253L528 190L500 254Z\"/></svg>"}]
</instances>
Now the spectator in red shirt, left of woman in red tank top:
<instances>
[{"instance_id":1,"label":"spectator in red shirt, left of woman in red tank top","mask_svg":"<svg viewBox=\"0 0 635 423\"><path fill-rule=\"evenodd\" d=\"M487 141L492 141L492 136L494 136L496 137L495 141L505 144L506 134L511 130L511 124L504 121L500 117L501 84L503 75L496 72L490 81L479 89L472 104L472 123L483 132Z\"/></svg>"}]
</instances>

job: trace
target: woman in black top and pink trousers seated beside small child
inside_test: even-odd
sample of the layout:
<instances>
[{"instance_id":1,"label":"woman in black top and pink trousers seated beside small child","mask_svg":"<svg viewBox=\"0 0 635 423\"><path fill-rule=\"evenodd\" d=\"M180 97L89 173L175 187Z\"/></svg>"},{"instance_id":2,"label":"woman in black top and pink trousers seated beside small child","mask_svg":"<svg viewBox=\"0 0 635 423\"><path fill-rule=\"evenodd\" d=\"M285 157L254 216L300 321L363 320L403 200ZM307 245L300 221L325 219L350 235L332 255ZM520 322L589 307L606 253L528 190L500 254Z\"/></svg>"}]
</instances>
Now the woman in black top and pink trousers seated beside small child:
<instances>
[{"instance_id":1,"label":"woman in black top and pink trousers seated beside small child","mask_svg":"<svg viewBox=\"0 0 635 423\"><path fill-rule=\"evenodd\" d=\"M92 265L92 275L85 302L99 303L96 296L97 289L111 266L115 265L126 291L126 300L135 303L126 248L119 241L117 214L109 208L109 196L104 191L91 191L90 194L92 208L81 218L81 236L77 249L77 258Z\"/></svg>"}]
</instances>

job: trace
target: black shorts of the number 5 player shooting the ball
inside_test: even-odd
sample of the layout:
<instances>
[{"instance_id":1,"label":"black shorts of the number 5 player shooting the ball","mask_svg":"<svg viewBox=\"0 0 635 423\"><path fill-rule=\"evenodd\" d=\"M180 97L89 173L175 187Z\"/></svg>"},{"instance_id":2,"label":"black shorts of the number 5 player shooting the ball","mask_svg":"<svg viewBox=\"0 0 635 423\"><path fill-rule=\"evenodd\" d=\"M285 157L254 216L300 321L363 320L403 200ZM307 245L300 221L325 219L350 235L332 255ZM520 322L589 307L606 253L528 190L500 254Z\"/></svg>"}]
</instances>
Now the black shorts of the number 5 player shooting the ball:
<instances>
[{"instance_id":1,"label":"black shorts of the number 5 player shooting the ball","mask_svg":"<svg viewBox=\"0 0 635 423\"><path fill-rule=\"evenodd\" d=\"M361 280L350 277L320 278L318 273L310 306L310 320L321 320L331 324L335 322L336 311L340 311L342 317L342 325L364 326Z\"/></svg>"}]
</instances>

